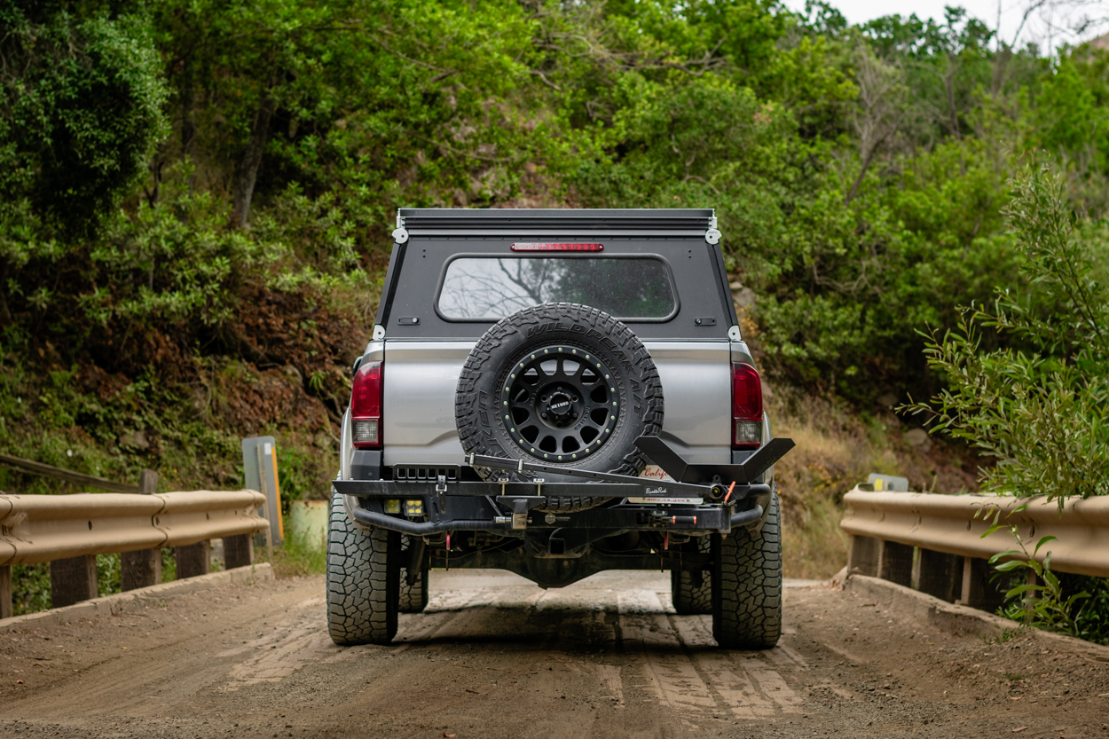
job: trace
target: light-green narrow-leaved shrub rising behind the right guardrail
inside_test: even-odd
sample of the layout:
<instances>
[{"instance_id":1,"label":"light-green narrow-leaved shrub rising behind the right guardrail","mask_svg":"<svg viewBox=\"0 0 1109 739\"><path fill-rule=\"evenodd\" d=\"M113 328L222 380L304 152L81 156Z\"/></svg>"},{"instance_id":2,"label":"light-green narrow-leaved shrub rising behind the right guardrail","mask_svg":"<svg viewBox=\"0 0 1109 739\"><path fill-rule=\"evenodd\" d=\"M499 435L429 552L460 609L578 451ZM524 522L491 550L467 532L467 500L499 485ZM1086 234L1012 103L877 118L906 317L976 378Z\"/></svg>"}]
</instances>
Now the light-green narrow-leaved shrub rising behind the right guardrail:
<instances>
[{"instance_id":1,"label":"light-green narrow-leaved shrub rising behind the right guardrail","mask_svg":"<svg viewBox=\"0 0 1109 739\"><path fill-rule=\"evenodd\" d=\"M1075 217L1060 175L1031 169L1014 191L1007 216L1030 291L1021 300L998 291L993 312L971 305L954 330L925 334L928 365L947 387L903 409L995 457L983 470L988 489L1061 506L1109 495L1102 244ZM1013 345L987 351L987 332Z\"/></svg>"}]
</instances>

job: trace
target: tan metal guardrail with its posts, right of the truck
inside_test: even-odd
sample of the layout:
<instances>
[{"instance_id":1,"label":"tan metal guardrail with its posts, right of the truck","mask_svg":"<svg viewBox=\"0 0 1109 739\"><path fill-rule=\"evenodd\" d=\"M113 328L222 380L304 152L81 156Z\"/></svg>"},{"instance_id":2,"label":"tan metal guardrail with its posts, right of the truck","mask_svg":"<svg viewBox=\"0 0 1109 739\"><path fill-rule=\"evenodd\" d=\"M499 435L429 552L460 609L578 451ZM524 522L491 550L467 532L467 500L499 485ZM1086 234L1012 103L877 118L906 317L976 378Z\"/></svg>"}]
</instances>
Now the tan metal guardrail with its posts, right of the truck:
<instances>
[{"instance_id":1,"label":"tan metal guardrail with its posts, right of the truck","mask_svg":"<svg viewBox=\"0 0 1109 739\"><path fill-rule=\"evenodd\" d=\"M841 523L851 535L849 573L881 577L899 585L975 608L995 610L1001 590L991 578L988 559L1015 549L1007 529L985 538L993 514L1015 524L1029 551L1044 536L1058 540L1051 569L1109 577L1109 498L1068 500L1061 512L1045 498L930 493L872 493L856 487L844 496L848 506ZM1025 506L1024 510L1016 509ZM976 517L977 514L977 517Z\"/></svg>"}]
</instances>

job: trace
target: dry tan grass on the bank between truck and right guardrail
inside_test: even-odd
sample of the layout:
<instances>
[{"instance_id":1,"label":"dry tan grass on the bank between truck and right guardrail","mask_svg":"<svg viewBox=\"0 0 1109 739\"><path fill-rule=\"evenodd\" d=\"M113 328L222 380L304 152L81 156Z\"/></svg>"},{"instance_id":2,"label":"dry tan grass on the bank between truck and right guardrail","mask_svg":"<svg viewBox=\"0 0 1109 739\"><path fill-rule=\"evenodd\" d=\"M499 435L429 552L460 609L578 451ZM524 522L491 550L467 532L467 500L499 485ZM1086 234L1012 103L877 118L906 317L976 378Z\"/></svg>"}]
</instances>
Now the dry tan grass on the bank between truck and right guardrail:
<instances>
[{"instance_id":1,"label":"dry tan grass on the bank between truck and right guardrail","mask_svg":"<svg viewBox=\"0 0 1109 739\"><path fill-rule=\"evenodd\" d=\"M974 455L939 439L909 445L891 412L865 416L791 388L769 392L767 412L774 435L797 445L774 466L786 577L824 579L847 564L843 496L872 472L908 477L915 490L977 487Z\"/></svg>"}]
</instances>

